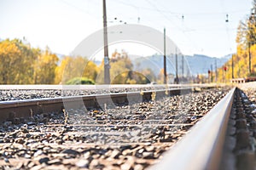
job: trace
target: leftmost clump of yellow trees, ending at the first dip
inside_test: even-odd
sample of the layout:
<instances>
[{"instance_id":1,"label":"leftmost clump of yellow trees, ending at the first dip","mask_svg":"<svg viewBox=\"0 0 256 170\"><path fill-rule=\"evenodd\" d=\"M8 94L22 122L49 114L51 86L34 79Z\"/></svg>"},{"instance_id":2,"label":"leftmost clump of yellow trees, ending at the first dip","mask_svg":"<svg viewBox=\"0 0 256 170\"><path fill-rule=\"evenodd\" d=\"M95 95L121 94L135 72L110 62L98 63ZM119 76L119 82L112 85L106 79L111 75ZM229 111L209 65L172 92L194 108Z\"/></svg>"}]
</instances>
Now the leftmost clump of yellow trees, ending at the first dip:
<instances>
[{"instance_id":1,"label":"leftmost clump of yellow trees, ending at the first dip","mask_svg":"<svg viewBox=\"0 0 256 170\"><path fill-rule=\"evenodd\" d=\"M0 42L1 84L50 84L55 82L58 57L46 48L32 48L19 39Z\"/></svg>"}]
</instances>

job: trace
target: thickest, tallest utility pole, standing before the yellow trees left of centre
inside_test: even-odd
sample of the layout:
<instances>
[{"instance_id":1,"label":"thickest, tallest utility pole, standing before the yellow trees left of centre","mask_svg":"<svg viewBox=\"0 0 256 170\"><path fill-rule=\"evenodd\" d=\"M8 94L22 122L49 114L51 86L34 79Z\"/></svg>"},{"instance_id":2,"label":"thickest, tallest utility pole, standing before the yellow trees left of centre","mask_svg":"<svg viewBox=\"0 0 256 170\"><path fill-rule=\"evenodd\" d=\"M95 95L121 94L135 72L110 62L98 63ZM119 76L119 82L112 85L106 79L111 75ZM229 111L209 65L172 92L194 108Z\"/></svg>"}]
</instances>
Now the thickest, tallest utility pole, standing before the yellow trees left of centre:
<instances>
[{"instance_id":1,"label":"thickest, tallest utility pole, standing before the yellow trees left of centre","mask_svg":"<svg viewBox=\"0 0 256 170\"><path fill-rule=\"evenodd\" d=\"M104 83L110 84L109 58L108 58L108 30L107 30L107 11L106 0L103 0L103 34L104 34Z\"/></svg>"}]
</instances>

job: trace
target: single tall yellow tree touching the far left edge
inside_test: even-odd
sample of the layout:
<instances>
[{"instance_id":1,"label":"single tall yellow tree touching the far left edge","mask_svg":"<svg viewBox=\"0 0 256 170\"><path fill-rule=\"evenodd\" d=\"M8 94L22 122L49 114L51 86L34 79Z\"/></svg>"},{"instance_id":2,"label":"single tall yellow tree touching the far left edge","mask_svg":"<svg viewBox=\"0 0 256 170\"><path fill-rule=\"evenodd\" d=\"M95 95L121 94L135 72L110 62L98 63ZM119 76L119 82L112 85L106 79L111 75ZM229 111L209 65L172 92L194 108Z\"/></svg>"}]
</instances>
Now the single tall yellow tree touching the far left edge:
<instances>
[{"instance_id":1,"label":"single tall yellow tree touching the far left edge","mask_svg":"<svg viewBox=\"0 0 256 170\"><path fill-rule=\"evenodd\" d=\"M19 39L0 42L0 83L28 84L33 82L33 63L39 50Z\"/></svg>"}]
</instances>

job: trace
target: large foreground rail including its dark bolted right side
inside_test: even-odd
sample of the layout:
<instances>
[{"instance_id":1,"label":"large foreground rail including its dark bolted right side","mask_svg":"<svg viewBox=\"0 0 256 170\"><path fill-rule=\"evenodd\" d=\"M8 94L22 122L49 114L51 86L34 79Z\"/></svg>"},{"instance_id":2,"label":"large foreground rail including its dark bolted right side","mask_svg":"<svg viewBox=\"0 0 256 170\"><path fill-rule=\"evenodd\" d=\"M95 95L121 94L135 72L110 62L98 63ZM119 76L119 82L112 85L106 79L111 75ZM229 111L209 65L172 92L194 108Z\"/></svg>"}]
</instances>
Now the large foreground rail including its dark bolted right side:
<instances>
[{"instance_id":1,"label":"large foreground rail including its dark bolted right side","mask_svg":"<svg viewBox=\"0 0 256 170\"><path fill-rule=\"evenodd\" d=\"M255 113L255 103L233 88L151 169L255 169Z\"/></svg>"}]
</instances>

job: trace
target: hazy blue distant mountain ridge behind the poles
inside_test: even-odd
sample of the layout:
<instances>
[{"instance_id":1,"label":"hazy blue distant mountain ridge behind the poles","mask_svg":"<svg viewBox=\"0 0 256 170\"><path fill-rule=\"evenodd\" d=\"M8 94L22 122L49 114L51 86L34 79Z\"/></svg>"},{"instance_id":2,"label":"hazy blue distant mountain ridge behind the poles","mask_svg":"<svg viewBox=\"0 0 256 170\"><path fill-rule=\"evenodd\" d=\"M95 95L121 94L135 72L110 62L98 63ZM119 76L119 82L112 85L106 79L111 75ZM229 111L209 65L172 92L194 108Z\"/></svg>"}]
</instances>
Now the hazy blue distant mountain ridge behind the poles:
<instances>
[{"instance_id":1,"label":"hazy blue distant mountain ridge behind the poles","mask_svg":"<svg viewBox=\"0 0 256 170\"><path fill-rule=\"evenodd\" d=\"M207 74L210 70L215 71L216 68L223 66L230 58L226 55L222 58L212 58L206 55L195 54L193 56L185 55L177 56L177 73L183 76L195 76L197 74ZM163 55L152 55L131 59L135 71L143 71L150 68L154 71L154 75L158 76L160 70L164 67ZM176 74L176 57L175 55L166 56L166 71L167 74Z\"/></svg>"}]
</instances>

